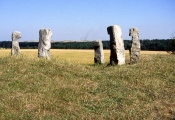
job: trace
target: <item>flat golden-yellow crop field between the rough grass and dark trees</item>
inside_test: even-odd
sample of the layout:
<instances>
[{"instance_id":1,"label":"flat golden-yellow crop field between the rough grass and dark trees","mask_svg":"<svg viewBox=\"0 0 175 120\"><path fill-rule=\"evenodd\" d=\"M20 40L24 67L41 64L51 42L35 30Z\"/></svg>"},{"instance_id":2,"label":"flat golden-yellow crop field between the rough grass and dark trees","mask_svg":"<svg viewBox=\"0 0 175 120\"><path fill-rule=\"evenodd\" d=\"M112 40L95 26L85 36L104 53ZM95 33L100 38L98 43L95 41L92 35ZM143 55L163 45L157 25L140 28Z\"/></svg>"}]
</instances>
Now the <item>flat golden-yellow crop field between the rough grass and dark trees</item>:
<instances>
[{"instance_id":1,"label":"flat golden-yellow crop field between the rough grass and dark trees","mask_svg":"<svg viewBox=\"0 0 175 120\"><path fill-rule=\"evenodd\" d=\"M10 55L10 49L1 49L0 56ZM37 58L37 49L21 49L21 54ZM129 59L129 51L126 50L126 59ZM167 54L166 51L141 51L141 54ZM93 64L94 50L80 49L51 49L52 58L60 61L68 61L72 63ZM109 61L110 50L104 50L105 62Z\"/></svg>"}]
</instances>

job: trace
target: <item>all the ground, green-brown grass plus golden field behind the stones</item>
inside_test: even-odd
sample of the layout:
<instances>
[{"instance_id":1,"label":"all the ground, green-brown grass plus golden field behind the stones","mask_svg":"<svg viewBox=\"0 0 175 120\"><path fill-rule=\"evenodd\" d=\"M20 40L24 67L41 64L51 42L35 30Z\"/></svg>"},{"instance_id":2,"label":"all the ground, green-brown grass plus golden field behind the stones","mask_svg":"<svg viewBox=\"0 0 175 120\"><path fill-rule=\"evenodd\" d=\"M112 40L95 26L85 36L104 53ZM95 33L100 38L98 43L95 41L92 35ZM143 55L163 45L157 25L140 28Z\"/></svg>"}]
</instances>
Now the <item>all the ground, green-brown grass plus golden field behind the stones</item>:
<instances>
[{"instance_id":1,"label":"all the ground, green-brown grass plus golden field behind the stones","mask_svg":"<svg viewBox=\"0 0 175 120\"><path fill-rule=\"evenodd\" d=\"M93 63L93 50L0 50L0 119L173 119L175 56L142 51L137 64ZM129 54L126 51L126 61Z\"/></svg>"}]
</instances>

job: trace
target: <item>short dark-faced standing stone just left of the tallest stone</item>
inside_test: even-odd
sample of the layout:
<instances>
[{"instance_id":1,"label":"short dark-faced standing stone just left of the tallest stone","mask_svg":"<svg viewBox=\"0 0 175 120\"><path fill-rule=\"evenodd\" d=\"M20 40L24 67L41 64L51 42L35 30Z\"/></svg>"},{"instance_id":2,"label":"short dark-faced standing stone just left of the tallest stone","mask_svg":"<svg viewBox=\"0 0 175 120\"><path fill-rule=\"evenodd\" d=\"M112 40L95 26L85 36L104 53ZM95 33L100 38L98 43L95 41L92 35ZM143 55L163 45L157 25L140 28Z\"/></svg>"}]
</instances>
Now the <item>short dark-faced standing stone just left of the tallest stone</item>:
<instances>
[{"instance_id":1,"label":"short dark-faced standing stone just left of the tallest stone","mask_svg":"<svg viewBox=\"0 0 175 120\"><path fill-rule=\"evenodd\" d=\"M94 63L104 63L103 43L101 40L96 40L94 42L94 53Z\"/></svg>"}]
</instances>

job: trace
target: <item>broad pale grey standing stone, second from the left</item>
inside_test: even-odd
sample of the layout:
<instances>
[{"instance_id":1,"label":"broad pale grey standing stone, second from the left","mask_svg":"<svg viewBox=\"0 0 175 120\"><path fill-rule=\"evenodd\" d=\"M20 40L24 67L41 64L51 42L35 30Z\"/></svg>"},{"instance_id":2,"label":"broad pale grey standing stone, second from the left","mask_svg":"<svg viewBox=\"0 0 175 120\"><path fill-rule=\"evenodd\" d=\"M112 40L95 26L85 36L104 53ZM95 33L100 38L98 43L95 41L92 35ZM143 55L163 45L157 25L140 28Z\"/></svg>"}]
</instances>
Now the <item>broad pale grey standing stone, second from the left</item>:
<instances>
[{"instance_id":1,"label":"broad pale grey standing stone, second from the left","mask_svg":"<svg viewBox=\"0 0 175 120\"><path fill-rule=\"evenodd\" d=\"M39 31L39 44L38 44L38 57L50 59L52 32L50 29L40 29Z\"/></svg>"}]
</instances>

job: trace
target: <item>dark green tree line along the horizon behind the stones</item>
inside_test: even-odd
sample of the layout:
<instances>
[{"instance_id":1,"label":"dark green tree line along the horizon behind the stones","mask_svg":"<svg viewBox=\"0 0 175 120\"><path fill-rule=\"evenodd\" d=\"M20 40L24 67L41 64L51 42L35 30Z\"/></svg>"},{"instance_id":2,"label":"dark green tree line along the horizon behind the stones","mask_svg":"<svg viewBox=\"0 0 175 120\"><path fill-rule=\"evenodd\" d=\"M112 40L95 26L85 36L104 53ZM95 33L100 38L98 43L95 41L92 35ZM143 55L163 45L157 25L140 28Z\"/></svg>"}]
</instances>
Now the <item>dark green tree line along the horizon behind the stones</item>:
<instances>
[{"instance_id":1,"label":"dark green tree line along the horizon behind the stones","mask_svg":"<svg viewBox=\"0 0 175 120\"><path fill-rule=\"evenodd\" d=\"M109 40L102 41L104 49L110 49ZM175 51L175 40L153 39L140 40L141 50ZM37 49L38 42L19 42L21 49ZM125 50L131 48L131 40L124 40ZM11 41L0 41L0 48L11 48ZM93 49L93 41L89 42L53 42L51 49Z\"/></svg>"}]
</instances>

